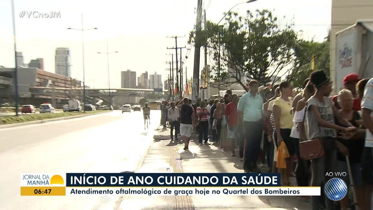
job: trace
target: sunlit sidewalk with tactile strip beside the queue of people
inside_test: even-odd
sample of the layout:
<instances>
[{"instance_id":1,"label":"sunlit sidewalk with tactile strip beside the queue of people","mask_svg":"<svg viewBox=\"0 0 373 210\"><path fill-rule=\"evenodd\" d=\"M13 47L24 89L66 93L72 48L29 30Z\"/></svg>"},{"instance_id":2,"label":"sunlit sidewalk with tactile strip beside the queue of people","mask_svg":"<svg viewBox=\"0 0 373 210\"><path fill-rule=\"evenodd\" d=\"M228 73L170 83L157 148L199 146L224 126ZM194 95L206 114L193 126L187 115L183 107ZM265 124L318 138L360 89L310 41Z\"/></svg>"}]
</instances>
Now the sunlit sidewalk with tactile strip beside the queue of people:
<instances>
[{"instance_id":1,"label":"sunlit sidewalk with tactile strip beside the queue of people","mask_svg":"<svg viewBox=\"0 0 373 210\"><path fill-rule=\"evenodd\" d=\"M154 144L145 155L138 172L173 173L243 173L243 162L239 157L231 157L230 152L212 145L198 146L198 137L189 143L189 151L184 144L171 143L170 130L159 131ZM238 154L238 153L237 153ZM167 169L169 168L169 169ZM311 209L294 196L130 196L123 198L120 209Z\"/></svg>"}]
</instances>

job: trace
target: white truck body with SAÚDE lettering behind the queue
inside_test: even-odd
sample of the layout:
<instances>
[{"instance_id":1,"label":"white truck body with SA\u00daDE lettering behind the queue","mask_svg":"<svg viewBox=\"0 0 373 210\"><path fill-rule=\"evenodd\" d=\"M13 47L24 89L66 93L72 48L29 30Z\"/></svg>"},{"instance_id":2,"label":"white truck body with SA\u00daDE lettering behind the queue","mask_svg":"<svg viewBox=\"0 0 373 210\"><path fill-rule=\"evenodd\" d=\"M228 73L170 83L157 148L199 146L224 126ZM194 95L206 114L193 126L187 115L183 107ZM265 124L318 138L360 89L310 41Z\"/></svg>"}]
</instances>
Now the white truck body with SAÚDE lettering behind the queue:
<instances>
[{"instance_id":1,"label":"white truck body with SA\u00daDE lettering behind the queue","mask_svg":"<svg viewBox=\"0 0 373 210\"><path fill-rule=\"evenodd\" d=\"M343 78L356 73L360 78L373 77L373 19L336 33L335 91L343 89Z\"/></svg>"}]
</instances>

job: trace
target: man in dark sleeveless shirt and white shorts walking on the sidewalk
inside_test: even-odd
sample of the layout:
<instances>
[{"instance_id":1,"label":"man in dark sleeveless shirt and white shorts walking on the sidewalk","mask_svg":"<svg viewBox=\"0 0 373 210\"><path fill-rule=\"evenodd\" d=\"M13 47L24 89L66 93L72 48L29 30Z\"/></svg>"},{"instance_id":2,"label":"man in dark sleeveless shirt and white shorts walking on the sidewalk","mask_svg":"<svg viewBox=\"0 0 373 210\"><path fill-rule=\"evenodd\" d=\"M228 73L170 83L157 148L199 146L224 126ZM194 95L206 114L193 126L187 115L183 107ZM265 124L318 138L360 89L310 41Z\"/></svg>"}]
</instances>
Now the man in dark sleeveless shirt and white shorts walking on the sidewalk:
<instances>
[{"instance_id":1,"label":"man in dark sleeveless shirt and white shorts walking on the sidewalk","mask_svg":"<svg viewBox=\"0 0 373 210\"><path fill-rule=\"evenodd\" d=\"M195 127L194 122L194 108L189 105L189 99L183 99L183 105L180 109L180 138L184 141L184 150L189 149L189 140L192 134L192 128Z\"/></svg>"}]
</instances>

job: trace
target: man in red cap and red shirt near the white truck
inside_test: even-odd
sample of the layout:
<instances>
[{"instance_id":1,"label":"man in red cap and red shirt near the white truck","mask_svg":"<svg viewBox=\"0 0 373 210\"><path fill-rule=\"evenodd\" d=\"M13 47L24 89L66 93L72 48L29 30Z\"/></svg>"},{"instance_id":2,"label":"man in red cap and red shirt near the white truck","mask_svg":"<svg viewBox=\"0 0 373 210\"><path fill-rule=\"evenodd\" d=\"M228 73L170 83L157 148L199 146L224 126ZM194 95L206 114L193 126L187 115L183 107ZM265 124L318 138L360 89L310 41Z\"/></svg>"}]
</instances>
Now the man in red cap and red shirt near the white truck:
<instances>
[{"instance_id":1,"label":"man in red cap and red shirt near the white truck","mask_svg":"<svg viewBox=\"0 0 373 210\"><path fill-rule=\"evenodd\" d=\"M361 99L356 93L356 84L358 83L358 81L360 81L359 75L355 74L355 73L348 74L343 79L344 89L350 90L352 92L352 94L354 95L354 101L353 101L353 104L352 104L352 108L355 111L360 111L361 110L361 106L360 106ZM334 101L334 105L338 109L341 109L341 106L339 106L339 104L338 104L338 94L333 96L332 99Z\"/></svg>"}]
</instances>

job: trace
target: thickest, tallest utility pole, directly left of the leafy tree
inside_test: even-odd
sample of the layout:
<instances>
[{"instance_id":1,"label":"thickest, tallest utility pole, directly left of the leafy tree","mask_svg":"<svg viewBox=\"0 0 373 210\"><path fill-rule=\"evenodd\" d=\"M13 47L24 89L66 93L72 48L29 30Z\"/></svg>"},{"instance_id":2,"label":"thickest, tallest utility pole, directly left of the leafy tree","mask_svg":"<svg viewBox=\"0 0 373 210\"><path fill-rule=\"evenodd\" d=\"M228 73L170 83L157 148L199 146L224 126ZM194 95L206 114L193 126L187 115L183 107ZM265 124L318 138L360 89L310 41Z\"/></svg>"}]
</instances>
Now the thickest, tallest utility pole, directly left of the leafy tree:
<instances>
[{"instance_id":1,"label":"thickest, tallest utility pole, directly left of the leafy tree","mask_svg":"<svg viewBox=\"0 0 373 210\"><path fill-rule=\"evenodd\" d=\"M196 34L195 39L199 40L201 35L201 13L202 13L202 0L198 0L197 6L197 21L196 21ZM192 85L192 101L196 102L198 98L198 84L200 77L200 55L201 55L201 46L200 43L196 43L194 48L194 67L193 67L193 85Z\"/></svg>"}]
</instances>

